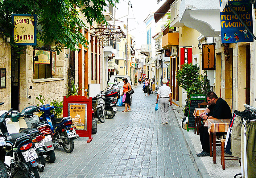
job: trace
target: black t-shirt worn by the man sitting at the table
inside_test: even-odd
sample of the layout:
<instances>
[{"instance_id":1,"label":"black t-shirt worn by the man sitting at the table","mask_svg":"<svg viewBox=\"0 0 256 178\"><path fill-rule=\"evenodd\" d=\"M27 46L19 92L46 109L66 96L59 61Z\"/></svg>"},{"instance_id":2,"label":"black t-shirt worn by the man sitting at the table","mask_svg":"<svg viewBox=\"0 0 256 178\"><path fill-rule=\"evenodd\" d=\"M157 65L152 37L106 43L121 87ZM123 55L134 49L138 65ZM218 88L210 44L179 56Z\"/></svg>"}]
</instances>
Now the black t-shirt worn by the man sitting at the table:
<instances>
[{"instance_id":1,"label":"black t-shirt worn by the man sitting at the table","mask_svg":"<svg viewBox=\"0 0 256 178\"><path fill-rule=\"evenodd\" d=\"M228 103L219 98L214 106L209 106L208 109L211 111L210 115L217 119L230 119L232 113Z\"/></svg>"}]
</instances>

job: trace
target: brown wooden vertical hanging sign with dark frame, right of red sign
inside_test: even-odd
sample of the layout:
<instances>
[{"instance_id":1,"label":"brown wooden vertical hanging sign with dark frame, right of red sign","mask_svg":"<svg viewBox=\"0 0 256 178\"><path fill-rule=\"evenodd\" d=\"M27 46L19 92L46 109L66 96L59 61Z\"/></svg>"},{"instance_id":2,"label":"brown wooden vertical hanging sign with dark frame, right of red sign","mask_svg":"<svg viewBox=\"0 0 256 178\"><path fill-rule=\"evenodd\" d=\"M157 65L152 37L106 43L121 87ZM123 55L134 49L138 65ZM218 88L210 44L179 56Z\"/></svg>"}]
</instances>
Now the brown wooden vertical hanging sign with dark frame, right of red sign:
<instances>
[{"instance_id":1,"label":"brown wooden vertical hanging sign with dark frame, right of red sign","mask_svg":"<svg viewBox=\"0 0 256 178\"><path fill-rule=\"evenodd\" d=\"M215 70L215 44L202 44L203 70Z\"/></svg>"}]
</instances>

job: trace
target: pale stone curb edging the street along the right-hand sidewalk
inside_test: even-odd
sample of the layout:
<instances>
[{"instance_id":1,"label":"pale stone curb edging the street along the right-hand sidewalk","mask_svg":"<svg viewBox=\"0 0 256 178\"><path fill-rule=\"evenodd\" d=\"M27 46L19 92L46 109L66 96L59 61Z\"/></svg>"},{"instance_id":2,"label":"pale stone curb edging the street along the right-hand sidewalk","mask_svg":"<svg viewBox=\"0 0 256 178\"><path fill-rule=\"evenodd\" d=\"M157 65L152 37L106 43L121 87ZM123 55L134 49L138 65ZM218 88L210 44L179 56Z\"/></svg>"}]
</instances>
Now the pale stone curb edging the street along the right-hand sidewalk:
<instances>
[{"instance_id":1,"label":"pale stone curb edging the street along the right-hand sidewalk","mask_svg":"<svg viewBox=\"0 0 256 178\"><path fill-rule=\"evenodd\" d=\"M179 122L179 119L178 119L178 118L180 118L180 116L179 116L178 111L177 111L176 108L178 108L178 107L173 108L175 118L177 119L179 128L180 128L181 133L184 137L185 144L187 145L188 153L189 153L190 158L191 158L191 160L194 164L194 167L196 168L196 172L197 172L197 174L200 178L211 178L211 176L209 175L209 173L207 172L207 170L204 166L203 161L199 157L194 156L194 155L196 155L196 151L195 151L193 146L190 146L190 145L192 145L192 141L191 141L190 137L188 136L187 131L184 130L183 128L181 128L181 125L180 125L180 122ZM181 109L180 109L180 111L181 111Z\"/></svg>"}]
</instances>

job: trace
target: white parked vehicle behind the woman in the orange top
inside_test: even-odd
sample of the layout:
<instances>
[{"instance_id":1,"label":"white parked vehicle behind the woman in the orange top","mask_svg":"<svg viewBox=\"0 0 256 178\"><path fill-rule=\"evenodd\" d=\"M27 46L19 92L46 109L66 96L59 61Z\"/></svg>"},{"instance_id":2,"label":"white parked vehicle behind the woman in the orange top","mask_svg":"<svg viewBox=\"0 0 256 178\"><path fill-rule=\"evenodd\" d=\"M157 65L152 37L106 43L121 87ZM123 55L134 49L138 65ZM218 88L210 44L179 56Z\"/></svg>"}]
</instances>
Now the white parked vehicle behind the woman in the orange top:
<instances>
[{"instance_id":1,"label":"white parked vehicle behind the woman in the orange top","mask_svg":"<svg viewBox=\"0 0 256 178\"><path fill-rule=\"evenodd\" d=\"M120 92L119 92L120 95L123 93L123 90L124 90L123 89L124 82L122 81L123 78L127 78L128 82L132 86L130 76L128 76L128 75L111 75L109 82L108 82L109 88L112 88L114 85L117 85L120 87ZM131 102L132 102L132 95L131 95Z\"/></svg>"}]
</instances>

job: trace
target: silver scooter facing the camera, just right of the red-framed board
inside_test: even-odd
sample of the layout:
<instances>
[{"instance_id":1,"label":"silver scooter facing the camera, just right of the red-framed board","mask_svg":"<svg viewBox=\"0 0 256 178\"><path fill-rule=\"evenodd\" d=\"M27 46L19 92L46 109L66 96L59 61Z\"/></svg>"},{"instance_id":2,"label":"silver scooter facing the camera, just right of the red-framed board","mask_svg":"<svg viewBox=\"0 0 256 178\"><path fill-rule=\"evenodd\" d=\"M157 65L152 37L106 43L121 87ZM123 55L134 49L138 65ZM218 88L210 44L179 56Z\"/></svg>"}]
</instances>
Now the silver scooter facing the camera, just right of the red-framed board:
<instances>
[{"instance_id":1,"label":"silver scooter facing the camera, just right of the red-framed board","mask_svg":"<svg viewBox=\"0 0 256 178\"><path fill-rule=\"evenodd\" d=\"M104 123L106 120L106 114L105 114L105 101L102 99L101 93L97 94L93 98L93 110L94 110L94 116L97 116L98 120L101 123Z\"/></svg>"}]
</instances>

